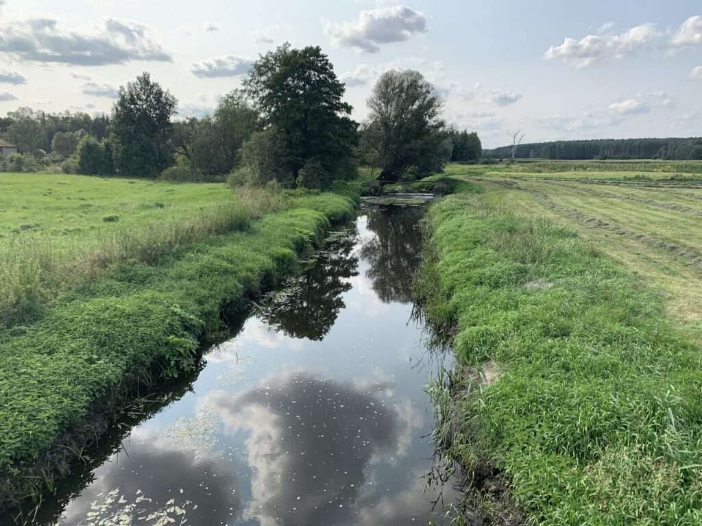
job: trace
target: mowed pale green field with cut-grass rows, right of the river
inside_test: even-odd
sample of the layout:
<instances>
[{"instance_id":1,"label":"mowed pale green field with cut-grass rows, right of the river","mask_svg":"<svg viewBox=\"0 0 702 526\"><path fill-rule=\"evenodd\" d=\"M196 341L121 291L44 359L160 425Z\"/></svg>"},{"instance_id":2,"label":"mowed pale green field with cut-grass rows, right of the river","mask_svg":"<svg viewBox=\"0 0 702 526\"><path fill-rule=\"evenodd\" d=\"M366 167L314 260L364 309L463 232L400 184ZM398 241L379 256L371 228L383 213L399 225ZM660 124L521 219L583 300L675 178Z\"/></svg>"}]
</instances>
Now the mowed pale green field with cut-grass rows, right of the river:
<instances>
[{"instance_id":1,"label":"mowed pale green field with cut-grass rows, right of the river","mask_svg":"<svg viewBox=\"0 0 702 526\"><path fill-rule=\"evenodd\" d=\"M621 171L624 163L598 161L558 171L565 164L447 171L481 185L487 201L517 215L577 231L659 292L670 318L702 342L702 163L631 161L638 170ZM541 171L531 171L535 166Z\"/></svg>"}]
</instances>

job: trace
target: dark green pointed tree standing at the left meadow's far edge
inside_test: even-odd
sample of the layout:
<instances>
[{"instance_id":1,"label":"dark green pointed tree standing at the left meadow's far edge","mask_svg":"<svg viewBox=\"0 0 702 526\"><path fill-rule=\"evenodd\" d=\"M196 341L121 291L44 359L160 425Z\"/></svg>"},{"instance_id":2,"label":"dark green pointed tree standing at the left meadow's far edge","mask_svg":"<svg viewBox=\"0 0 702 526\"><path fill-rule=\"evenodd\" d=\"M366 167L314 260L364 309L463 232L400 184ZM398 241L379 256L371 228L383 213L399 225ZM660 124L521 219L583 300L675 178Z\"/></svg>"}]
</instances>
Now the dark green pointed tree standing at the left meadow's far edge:
<instances>
[{"instance_id":1,"label":"dark green pointed tree standing at the left meadow's far edge","mask_svg":"<svg viewBox=\"0 0 702 526\"><path fill-rule=\"evenodd\" d=\"M110 142L121 175L156 177L173 162L171 119L178 101L148 73L119 88L112 108Z\"/></svg>"}]
</instances>

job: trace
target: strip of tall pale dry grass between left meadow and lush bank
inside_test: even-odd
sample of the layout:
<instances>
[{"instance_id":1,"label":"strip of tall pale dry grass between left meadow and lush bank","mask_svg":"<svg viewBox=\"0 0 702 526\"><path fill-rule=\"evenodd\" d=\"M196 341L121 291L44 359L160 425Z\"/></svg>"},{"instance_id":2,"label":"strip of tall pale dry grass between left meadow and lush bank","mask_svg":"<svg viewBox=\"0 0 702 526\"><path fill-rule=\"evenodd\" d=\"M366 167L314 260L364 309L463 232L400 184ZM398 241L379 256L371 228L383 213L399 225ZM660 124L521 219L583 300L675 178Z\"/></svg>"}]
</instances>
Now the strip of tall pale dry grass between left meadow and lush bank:
<instances>
[{"instance_id":1,"label":"strip of tall pale dry grass between left meadow and lush bank","mask_svg":"<svg viewBox=\"0 0 702 526\"><path fill-rule=\"evenodd\" d=\"M69 236L21 232L0 245L0 328L29 323L64 292L89 283L110 267L157 264L179 248L249 228L251 221L293 205L286 191L237 189L232 201L204 205L190 217L171 215L138 228Z\"/></svg>"}]
</instances>

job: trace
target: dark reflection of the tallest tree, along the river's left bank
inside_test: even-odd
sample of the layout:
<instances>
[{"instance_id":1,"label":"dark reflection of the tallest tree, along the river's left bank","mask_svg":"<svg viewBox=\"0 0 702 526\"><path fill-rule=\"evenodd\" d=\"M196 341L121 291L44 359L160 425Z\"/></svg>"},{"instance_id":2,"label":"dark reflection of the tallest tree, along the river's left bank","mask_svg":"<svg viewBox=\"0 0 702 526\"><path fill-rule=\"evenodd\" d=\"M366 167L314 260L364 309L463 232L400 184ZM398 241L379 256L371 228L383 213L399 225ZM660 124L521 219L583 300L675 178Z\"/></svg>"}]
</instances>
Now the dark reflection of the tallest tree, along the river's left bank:
<instances>
[{"instance_id":1,"label":"dark reflection of the tallest tree, along the river's left bank","mask_svg":"<svg viewBox=\"0 0 702 526\"><path fill-rule=\"evenodd\" d=\"M356 239L353 227L325 243L312 269L263 302L263 321L291 337L322 340L345 306L341 295L352 287L348 278L357 275Z\"/></svg>"}]
</instances>

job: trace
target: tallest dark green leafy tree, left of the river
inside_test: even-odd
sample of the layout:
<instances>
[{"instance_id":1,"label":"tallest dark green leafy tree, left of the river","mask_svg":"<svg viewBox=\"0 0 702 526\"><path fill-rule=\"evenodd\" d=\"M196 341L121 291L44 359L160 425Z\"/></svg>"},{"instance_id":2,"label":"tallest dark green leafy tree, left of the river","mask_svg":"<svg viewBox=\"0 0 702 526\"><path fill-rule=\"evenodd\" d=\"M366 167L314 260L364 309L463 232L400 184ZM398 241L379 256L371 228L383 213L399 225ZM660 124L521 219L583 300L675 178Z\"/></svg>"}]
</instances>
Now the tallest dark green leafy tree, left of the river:
<instances>
[{"instance_id":1,"label":"tallest dark green leafy tree, left of the river","mask_svg":"<svg viewBox=\"0 0 702 526\"><path fill-rule=\"evenodd\" d=\"M279 46L254 63L244 87L263 124L284 134L287 155L281 161L289 172L298 173L314 159L331 180L352 155L358 125L343 101L345 86L321 48Z\"/></svg>"}]
</instances>

